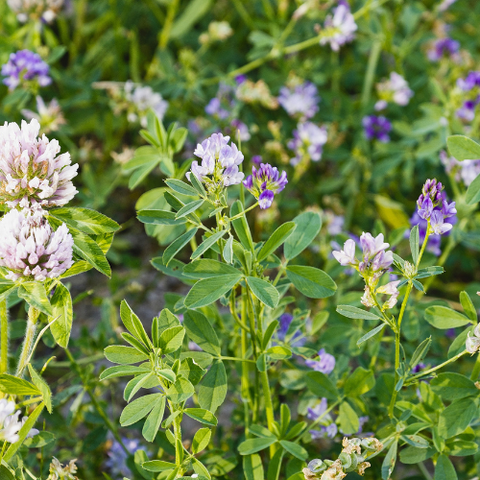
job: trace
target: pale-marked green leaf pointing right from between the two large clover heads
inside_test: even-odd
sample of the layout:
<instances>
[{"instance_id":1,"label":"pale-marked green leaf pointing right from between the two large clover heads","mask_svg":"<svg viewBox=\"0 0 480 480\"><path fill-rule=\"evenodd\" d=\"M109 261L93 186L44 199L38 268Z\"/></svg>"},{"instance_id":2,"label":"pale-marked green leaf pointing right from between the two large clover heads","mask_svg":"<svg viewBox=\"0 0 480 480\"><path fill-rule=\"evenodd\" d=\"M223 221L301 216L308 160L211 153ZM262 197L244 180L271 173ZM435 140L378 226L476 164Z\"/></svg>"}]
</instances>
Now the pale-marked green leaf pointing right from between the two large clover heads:
<instances>
[{"instance_id":1,"label":"pale-marked green leaf pointing right from between the two large clover heads","mask_svg":"<svg viewBox=\"0 0 480 480\"><path fill-rule=\"evenodd\" d=\"M120 225L90 208L62 207L50 210L49 215L89 235L116 232Z\"/></svg>"}]
</instances>

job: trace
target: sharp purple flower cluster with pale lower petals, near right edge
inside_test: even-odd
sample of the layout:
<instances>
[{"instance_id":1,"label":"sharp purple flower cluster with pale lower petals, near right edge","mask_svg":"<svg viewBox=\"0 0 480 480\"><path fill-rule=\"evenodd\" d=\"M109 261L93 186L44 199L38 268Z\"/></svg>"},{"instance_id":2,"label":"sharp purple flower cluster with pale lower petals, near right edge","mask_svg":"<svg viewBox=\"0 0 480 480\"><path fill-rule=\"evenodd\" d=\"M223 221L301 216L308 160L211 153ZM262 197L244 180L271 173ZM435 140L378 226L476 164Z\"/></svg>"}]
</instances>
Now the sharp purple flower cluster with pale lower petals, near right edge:
<instances>
[{"instance_id":1,"label":"sharp purple flower cluster with pale lower petals, near right edge","mask_svg":"<svg viewBox=\"0 0 480 480\"><path fill-rule=\"evenodd\" d=\"M420 218L429 222L429 233L442 235L451 230L452 224L445 220L454 217L457 210L455 202L448 203L443 185L436 179L428 179L417 200L417 213Z\"/></svg>"}]
</instances>

